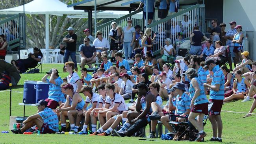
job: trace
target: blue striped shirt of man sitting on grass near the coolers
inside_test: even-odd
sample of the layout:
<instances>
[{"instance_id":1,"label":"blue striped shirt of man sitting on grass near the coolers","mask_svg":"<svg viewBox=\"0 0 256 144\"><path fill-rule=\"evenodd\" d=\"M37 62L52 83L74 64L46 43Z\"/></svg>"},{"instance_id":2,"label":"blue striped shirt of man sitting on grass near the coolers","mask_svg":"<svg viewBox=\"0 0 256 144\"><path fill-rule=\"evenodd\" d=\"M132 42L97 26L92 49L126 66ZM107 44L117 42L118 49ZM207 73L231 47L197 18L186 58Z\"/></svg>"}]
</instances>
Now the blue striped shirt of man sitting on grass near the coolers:
<instances>
[{"instance_id":1,"label":"blue striped shirt of man sitting on grass near the coolers","mask_svg":"<svg viewBox=\"0 0 256 144\"><path fill-rule=\"evenodd\" d=\"M43 118L44 124L46 124L50 129L56 132L59 131L59 119L57 114L54 113L52 109L46 107L38 114Z\"/></svg>"}]
</instances>

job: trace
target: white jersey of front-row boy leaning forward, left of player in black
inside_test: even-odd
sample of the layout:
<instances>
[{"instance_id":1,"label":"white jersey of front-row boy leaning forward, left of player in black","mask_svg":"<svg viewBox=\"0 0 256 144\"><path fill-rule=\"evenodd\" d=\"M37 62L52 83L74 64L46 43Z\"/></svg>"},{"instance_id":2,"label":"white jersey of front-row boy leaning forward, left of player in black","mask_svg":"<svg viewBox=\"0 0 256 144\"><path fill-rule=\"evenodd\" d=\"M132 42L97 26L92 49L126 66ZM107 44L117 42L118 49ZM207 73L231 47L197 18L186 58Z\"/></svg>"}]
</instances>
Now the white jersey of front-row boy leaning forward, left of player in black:
<instances>
[{"instance_id":1,"label":"white jersey of front-row boy leaning forward, left of player in black","mask_svg":"<svg viewBox=\"0 0 256 144\"><path fill-rule=\"evenodd\" d=\"M117 107L118 111L127 111L128 110L126 107L124 98L120 94L114 93L113 99L111 99L110 96L106 97L106 104L110 105L109 109L111 109L114 106L114 104L116 104L116 103L119 104L119 106Z\"/></svg>"}]
</instances>

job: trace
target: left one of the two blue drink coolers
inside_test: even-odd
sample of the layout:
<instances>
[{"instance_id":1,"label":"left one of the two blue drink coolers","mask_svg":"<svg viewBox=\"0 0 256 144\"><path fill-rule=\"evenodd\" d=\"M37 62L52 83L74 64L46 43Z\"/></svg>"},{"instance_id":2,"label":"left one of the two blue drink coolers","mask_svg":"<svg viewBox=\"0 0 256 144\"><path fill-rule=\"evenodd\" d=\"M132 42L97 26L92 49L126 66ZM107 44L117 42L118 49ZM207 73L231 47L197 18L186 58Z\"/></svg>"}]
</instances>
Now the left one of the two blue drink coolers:
<instances>
[{"instance_id":1,"label":"left one of the two blue drink coolers","mask_svg":"<svg viewBox=\"0 0 256 144\"><path fill-rule=\"evenodd\" d=\"M35 92L36 92L37 81L25 81L23 90L23 103L36 103Z\"/></svg>"}]
</instances>

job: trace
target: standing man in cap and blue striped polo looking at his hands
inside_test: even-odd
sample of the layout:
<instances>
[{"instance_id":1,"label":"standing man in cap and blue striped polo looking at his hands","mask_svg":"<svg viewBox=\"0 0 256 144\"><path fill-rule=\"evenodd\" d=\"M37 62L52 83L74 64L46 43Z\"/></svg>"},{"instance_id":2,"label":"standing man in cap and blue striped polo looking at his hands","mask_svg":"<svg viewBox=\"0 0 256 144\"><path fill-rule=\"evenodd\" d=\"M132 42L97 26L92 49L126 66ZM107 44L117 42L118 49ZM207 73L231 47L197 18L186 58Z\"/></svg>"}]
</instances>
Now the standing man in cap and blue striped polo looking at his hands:
<instances>
[{"instance_id":1,"label":"standing man in cap and blue striped polo looking at his hands","mask_svg":"<svg viewBox=\"0 0 256 144\"><path fill-rule=\"evenodd\" d=\"M221 108L224 99L224 74L220 70L219 66L215 64L213 59L207 59L203 68L208 68L213 72L211 85L204 83L204 87L210 88L210 100L213 102L209 120L213 129L213 137L210 141L222 142L222 120L221 120ZM218 132L218 135L217 135Z\"/></svg>"}]
</instances>

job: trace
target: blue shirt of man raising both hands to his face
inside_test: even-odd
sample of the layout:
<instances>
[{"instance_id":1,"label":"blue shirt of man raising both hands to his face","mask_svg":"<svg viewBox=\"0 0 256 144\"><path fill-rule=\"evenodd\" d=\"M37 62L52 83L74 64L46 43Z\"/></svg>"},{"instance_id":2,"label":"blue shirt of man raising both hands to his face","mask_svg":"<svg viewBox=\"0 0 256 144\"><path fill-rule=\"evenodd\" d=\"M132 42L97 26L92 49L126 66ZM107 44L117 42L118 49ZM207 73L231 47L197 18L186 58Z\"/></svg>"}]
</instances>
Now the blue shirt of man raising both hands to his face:
<instances>
[{"instance_id":1,"label":"blue shirt of man raising both hands to his face","mask_svg":"<svg viewBox=\"0 0 256 144\"><path fill-rule=\"evenodd\" d=\"M63 80L58 77L57 79L54 79L55 85L53 83L50 83L50 79L46 79L47 83L50 84L49 91L48 91L48 99L55 100L56 102L59 102L60 97L62 95L61 87L60 85L63 83Z\"/></svg>"}]
</instances>

